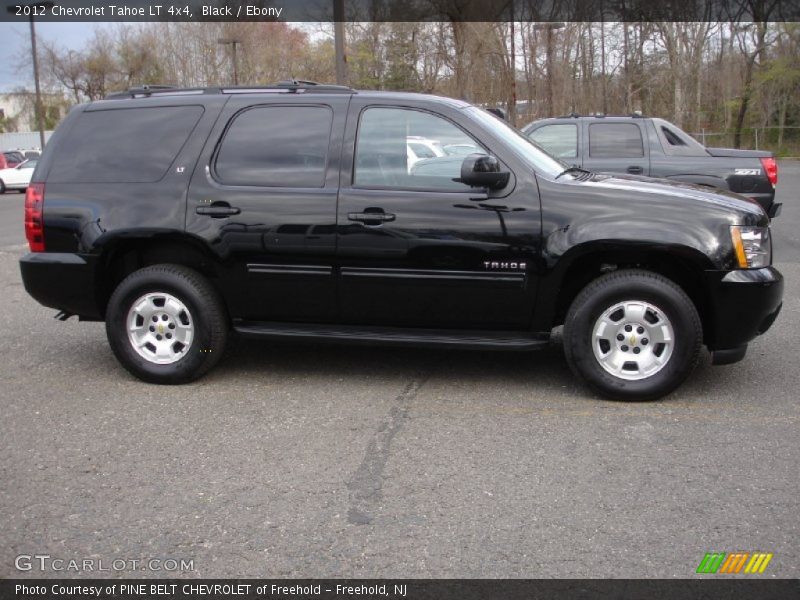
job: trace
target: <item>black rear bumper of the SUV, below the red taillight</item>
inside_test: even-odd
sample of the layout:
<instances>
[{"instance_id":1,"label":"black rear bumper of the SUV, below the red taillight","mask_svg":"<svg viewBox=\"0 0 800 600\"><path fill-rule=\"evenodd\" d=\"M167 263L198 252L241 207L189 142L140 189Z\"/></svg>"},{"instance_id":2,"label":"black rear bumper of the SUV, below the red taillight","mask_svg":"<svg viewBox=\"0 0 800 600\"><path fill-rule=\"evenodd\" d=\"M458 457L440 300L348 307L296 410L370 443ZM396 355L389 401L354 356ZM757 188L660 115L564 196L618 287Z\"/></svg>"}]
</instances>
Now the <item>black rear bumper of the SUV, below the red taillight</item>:
<instances>
[{"instance_id":1,"label":"black rear bumper of the SUV, below the red taillight","mask_svg":"<svg viewBox=\"0 0 800 600\"><path fill-rule=\"evenodd\" d=\"M96 257L57 252L26 254L19 261L25 290L40 304L88 319L102 318Z\"/></svg>"}]
</instances>

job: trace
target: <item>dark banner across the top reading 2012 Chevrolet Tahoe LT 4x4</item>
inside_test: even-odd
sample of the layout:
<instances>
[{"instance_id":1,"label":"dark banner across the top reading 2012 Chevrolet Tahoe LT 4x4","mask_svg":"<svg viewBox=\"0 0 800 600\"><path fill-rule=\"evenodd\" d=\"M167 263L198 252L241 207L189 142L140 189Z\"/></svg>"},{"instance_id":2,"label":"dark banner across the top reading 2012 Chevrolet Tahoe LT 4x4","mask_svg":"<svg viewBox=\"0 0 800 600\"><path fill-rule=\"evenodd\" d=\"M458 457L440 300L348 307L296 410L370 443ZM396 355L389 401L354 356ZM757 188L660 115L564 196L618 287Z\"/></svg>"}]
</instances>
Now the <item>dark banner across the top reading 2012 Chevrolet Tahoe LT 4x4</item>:
<instances>
[{"instance_id":1,"label":"dark banner across the top reading 2012 Chevrolet Tahoe LT 4x4","mask_svg":"<svg viewBox=\"0 0 800 600\"><path fill-rule=\"evenodd\" d=\"M800 0L0 0L0 21L800 21Z\"/></svg>"}]
</instances>

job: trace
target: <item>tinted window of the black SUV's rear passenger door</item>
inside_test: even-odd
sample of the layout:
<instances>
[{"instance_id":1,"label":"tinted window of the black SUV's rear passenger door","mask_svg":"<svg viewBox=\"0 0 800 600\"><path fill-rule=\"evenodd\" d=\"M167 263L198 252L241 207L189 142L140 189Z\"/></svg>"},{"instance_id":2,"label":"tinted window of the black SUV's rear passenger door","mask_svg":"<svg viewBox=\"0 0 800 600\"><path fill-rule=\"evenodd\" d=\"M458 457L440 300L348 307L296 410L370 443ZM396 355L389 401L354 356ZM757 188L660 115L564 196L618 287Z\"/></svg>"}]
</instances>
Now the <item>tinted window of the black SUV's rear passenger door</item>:
<instances>
[{"instance_id":1,"label":"tinted window of the black SUV's rear passenger door","mask_svg":"<svg viewBox=\"0 0 800 600\"><path fill-rule=\"evenodd\" d=\"M226 185L322 187L333 113L323 106L259 106L239 113L215 172Z\"/></svg>"}]
</instances>

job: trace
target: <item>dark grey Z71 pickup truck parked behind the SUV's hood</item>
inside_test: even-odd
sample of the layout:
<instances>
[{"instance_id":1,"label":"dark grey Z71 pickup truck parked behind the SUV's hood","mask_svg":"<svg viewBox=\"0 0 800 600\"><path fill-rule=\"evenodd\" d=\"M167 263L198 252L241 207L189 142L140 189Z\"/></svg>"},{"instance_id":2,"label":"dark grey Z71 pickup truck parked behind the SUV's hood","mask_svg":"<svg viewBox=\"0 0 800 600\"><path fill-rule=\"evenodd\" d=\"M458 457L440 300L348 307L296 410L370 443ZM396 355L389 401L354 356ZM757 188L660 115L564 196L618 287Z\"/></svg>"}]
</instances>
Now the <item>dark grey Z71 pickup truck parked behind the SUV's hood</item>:
<instances>
[{"instance_id":1,"label":"dark grey Z71 pickup truck parked behind the SUV's hood","mask_svg":"<svg viewBox=\"0 0 800 600\"><path fill-rule=\"evenodd\" d=\"M541 119L522 131L556 158L590 171L720 188L755 200L770 218L780 212L771 152L706 148L668 121L638 115Z\"/></svg>"}]
</instances>

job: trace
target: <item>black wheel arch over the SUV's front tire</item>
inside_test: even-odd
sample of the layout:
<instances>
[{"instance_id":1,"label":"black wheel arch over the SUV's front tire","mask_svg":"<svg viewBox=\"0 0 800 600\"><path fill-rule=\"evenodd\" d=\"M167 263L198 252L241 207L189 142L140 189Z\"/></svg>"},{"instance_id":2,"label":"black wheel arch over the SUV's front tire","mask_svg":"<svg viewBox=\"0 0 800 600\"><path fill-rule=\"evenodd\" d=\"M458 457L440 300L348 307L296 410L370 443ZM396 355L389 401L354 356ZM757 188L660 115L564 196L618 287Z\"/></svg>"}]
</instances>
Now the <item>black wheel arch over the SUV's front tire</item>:
<instances>
[{"instance_id":1,"label":"black wheel arch over the SUV's front tire","mask_svg":"<svg viewBox=\"0 0 800 600\"><path fill-rule=\"evenodd\" d=\"M553 324L563 325L572 301L591 281L619 269L645 269L663 275L680 287L697 308L703 323L703 336L710 338L706 319L708 296L703 283L703 267L690 257L659 252L592 253L573 262L562 278L556 300ZM705 341L705 340L704 340Z\"/></svg>"}]
</instances>

